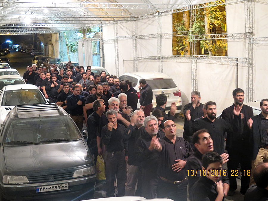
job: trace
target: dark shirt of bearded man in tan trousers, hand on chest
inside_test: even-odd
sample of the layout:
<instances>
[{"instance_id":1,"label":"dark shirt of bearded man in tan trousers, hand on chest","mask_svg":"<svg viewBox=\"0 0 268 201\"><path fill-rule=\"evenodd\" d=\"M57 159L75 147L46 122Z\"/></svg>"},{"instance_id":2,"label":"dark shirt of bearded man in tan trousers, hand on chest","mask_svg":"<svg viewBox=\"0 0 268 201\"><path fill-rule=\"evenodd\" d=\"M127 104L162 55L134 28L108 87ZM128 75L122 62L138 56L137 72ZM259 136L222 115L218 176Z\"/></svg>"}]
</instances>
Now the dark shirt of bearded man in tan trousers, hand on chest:
<instances>
[{"instance_id":1,"label":"dark shirt of bearded man in tan trousers, hand on chest","mask_svg":"<svg viewBox=\"0 0 268 201\"><path fill-rule=\"evenodd\" d=\"M73 116L83 115L82 105L77 105L77 102L79 100L83 102L84 96L81 96L81 95L75 96L74 94L72 94L71 96L68 96L66 98L67 109L69 110L70 115L73 115Z\"/></svg>"}]
</instances>

